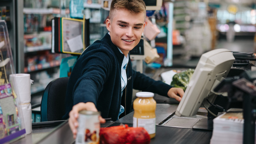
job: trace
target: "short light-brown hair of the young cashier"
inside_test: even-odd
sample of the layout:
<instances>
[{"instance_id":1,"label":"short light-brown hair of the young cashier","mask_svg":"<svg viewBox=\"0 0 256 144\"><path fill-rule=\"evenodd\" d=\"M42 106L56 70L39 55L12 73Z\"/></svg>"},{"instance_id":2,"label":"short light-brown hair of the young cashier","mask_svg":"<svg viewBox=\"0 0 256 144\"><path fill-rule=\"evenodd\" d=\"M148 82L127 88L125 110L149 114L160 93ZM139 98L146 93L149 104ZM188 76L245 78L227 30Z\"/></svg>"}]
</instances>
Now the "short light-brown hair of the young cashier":
<instances>
[{"instance_id":1,"label":"short light-brown hair of the young cashier","mask_svg":"<svg viewBox=\"0 0 256 144\"><path fill-rule=\"evenodd\" d=\"M144 12L146 17L146 4L143 0L112 0L109 19L112 21L115 10L128 9L131 13Z\"/></svg>"}]
</instances>

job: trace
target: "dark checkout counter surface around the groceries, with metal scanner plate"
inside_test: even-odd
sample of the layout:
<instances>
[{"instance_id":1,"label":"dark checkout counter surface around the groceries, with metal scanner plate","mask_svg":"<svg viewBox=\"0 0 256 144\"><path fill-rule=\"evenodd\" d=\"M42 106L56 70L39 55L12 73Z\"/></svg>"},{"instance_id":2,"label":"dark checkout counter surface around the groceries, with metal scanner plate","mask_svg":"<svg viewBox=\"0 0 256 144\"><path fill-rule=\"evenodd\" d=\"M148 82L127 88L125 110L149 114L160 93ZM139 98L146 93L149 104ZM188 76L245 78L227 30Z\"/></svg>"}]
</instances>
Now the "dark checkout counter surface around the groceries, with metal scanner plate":
<instances>
[{"instance_id":1,"label":"dark checkout counter surface around the groceries, with metal scanner plate","mask_svg":"<svg viewBox=\"0 0 256 144\"><path fill-rule=\"evenodd\" d=\"M171 69L174 68L160 68L155 72L152 78L160 80L159 74ZM207 119L207 111L205 109L200 108L198 115L187 117L184 121L184 118L181 119L174 115L175 110L178 107L178 102L175 101L175 99L166 98L157 94L155 94L154 99L157 102L155 110L156 135L151 139L150 144L210 144L212 135L211 130L192 128L192 125L199 119ZM101 127L119 126L121 123L133 126L133 113L134 112L131 112L115 122L107 121L105 124L101 124ZM177 121L176 125L173 125L174 123L172 125L168 124L168 121L171 119ZM59 124L58 126L51 126L49 123L48 125L43 123L44 122L33 123L32 134L29 134L12 144L75 144L75 139L73 139L73 134L68 125L68 121L55 122L55 124Z\"/></svg>"}]
</instances>

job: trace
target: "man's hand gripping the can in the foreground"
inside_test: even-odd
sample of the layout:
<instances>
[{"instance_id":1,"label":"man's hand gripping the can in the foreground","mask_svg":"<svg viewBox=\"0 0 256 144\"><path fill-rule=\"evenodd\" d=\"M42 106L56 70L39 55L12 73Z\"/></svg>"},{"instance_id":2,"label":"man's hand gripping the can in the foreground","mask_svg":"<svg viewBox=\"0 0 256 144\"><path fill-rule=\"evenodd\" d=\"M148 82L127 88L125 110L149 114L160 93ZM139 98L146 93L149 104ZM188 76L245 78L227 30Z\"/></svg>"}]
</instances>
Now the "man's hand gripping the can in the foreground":
<instances>
[{"instance_id":1,"label":"man's hand gripping the can in the foreground","mask_svg":"<svg viewBox=\"0 0 256 144\"><path fill-rule=\"evenodd\" d=\"M73 106L73 109L69 113L69 119L68 119L68 124L70 126L70 129L73 133L73 138L76 138L77 130L76 128L78 127L78 112L80 110L89 110L89 111L98 111L97 108L95 107L94 103L92 102L80 102L76 105ZM101 116L99 117L101 123L105 123L105 119L103 119Z\"/></svg>"}]
</instances>

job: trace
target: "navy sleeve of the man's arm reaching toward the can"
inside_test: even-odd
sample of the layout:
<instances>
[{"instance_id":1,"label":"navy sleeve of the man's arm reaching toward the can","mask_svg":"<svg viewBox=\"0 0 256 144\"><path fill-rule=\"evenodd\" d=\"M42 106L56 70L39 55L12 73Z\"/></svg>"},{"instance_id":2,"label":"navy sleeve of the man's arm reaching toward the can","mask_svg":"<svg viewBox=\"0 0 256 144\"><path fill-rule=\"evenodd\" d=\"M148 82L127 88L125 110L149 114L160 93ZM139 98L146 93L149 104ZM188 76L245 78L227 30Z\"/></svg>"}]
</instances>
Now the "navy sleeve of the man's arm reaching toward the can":
<instances>
[{"instance_id":1,"label":"navy sleeve of the man's arm reaching toward the can","mask_svg":"<svg viewBox=\"0 0 256 144\"><path fill-rule=\"evenodd\" d=\"M76 81L73 88L73 104L79 102L93 102L96 106L103 84L111 70L113 63L111 55L106 50L91 50L82 54L76 63L82 76ZM75 74L72 72L72 74Z\"/></svg>"}]
</instances>

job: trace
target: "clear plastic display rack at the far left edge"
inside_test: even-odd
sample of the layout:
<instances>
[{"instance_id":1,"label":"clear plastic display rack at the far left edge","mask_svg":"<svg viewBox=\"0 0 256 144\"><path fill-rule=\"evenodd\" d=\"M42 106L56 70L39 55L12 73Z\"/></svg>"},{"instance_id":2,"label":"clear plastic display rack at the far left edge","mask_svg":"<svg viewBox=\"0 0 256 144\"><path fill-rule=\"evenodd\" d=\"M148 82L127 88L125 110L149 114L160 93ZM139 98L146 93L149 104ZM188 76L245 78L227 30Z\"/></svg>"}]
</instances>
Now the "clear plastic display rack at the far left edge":
<instances>
[{"instance_id":1,"label":"clear plastic display rack at the far left edge","mask_svg":"<svg viewBox=\"0 0 256 144\"><path fill-rule=\"evenodd\" d=\"M0 144L26 135L18 88L9 83L16 81L9 77L14 67L6 22L0 20Z\"/></svg>"}]
</instances>

